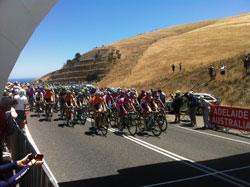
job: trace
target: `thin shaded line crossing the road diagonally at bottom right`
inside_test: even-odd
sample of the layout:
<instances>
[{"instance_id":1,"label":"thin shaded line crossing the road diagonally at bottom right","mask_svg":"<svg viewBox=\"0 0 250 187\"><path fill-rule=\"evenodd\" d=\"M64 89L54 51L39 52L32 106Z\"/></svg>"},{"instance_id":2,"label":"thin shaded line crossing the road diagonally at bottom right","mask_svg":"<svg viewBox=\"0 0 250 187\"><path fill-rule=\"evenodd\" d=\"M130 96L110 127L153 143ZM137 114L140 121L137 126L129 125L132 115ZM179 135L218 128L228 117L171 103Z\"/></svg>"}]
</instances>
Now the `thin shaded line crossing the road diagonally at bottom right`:
<instances>
[{"instance_id":1,"label":"thin shaded line crossing the road diagonally at bottom right","mask_svg":"<svg viewBox=\"0 0 250 187\"><path fill-rule=\"evenodd\" d=\"M183 178L183 179L177 179L177 180L172 180L172 181L168 181L168 182L161 182L161 183L157 183L157 184L150 184L150 185L146 185L146 186L143 186L143 187L161 186L161 185L166 185L166 184L172 184L172 183L178 183L178 182L183 182L183 181L189 181L189 180L203 178L203 177L207 177L207 176L213 176L213 175L216 175L218 173L227 173L227 172L238 171L238 170L243 170L243 169L247 169L247 168L250 168L250 166L245 166L245 167L240 167L240 168L234 168L234 169L229 169L229 170L224 170L224 171L218 171L218 172L214 172L214 173L209 173L209 174L204 174L204 175L198 175L198 176L188 177L188 178Z\"/></svg>"}]
</instances>

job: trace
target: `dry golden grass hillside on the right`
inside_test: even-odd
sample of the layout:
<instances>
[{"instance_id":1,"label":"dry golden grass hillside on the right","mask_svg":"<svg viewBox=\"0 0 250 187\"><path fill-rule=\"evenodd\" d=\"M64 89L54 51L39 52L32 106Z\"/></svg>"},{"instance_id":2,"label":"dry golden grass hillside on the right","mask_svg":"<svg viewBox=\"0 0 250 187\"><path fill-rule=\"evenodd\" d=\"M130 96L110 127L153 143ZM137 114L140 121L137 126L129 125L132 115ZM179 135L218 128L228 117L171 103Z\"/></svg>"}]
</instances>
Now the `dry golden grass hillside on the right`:
<instances>
[{"instance_id":1,"label":"dry golden grass hillside on the right","mask_svg":"<svg viewBox=\"0 0 250 187\"><path fill-rule=\"evenodd\" d=\"M154 87L167 93L194 88L215 94L226 105L250 106L249 76L239 60L250 51L250 13L161 29L109 46L119 49L122 59L99 86ZM208 82L208 65L221 63L227 75Z\"/></svg>"}]
</instances>

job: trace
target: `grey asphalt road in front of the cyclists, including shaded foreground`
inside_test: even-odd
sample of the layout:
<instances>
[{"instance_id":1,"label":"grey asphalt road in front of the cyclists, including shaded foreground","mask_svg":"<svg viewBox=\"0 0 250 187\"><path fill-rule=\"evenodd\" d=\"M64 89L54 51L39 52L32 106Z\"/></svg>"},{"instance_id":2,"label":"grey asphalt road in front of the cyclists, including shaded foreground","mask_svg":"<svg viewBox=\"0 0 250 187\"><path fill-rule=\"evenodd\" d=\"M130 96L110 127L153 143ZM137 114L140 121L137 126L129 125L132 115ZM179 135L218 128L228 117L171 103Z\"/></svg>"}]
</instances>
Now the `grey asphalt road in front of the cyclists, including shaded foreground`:
<instances>
[{"instance_id":1,"label":"grey asphalt road in front of the cyclists, including shaded foreground","mask_svg":"<svg viewBox=\"0 0 250 187\"><path fill-rule=\"evenodd\" d=\"M68 127L28 116L28 128L62 187L250 186L250 138L237 133L169 124L166 133L135 137L110 129L90 133L90 123ZM173 116L168 117L169 121Z\"/></svg>"}]
</instances>

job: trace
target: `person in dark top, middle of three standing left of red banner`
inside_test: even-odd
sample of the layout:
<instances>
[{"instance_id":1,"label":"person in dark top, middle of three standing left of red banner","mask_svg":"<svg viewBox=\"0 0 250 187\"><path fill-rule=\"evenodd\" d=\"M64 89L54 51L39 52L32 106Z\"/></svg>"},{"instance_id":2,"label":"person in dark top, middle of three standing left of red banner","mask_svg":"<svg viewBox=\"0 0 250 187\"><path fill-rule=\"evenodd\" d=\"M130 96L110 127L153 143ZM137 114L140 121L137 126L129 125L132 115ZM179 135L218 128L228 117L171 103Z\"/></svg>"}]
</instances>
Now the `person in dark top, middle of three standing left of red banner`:
<instances>
[{"instance_id":1,"label":"person in dark top, middle of three standing left of red banner","mask_svg":"<svg viewBox=\"0 0 250 187\"><path fill-rule=\"evenodd\" d=\"M191 126L196 126L196 112L198 107L198 99L194 96L194 92L190 91L184 94L189 102L189 117L191 119Z\"/></svg>"}]
</instances>

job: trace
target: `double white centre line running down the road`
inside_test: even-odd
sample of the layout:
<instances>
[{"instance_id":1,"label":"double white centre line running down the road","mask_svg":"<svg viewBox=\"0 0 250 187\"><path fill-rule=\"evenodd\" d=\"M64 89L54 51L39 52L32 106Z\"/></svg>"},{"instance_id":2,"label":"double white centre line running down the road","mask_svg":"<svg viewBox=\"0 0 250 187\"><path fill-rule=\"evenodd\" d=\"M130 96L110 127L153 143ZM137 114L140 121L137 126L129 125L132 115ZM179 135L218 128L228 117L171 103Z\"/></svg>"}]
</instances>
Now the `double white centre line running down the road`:
<instances>
[{"instance_id":1,"label":"double white centre line running down the road","mask_svg":"<svg viewBox=\"0 0 250 187\"><path fill-rule=\"evenodd\" d=\"M111 131L111 132L116 132L116 130L113 129L113 128L109 128L109 131ZM118 131L117 131L117 132L118 132ZM133 141L133 142L135 142L135 143L137 143L137 144L139 144L139 145L141 145L141 146L144 146L144 147L146 147L146 148L148 148L148 149L150 149L150 150L153 150L153 151L155 151L155 152L157 152L157 153L160 153L160 154L162 154L162 155L164 155L164 156L166 156L166 157L172 158L173 160L180 161L180 162L182 162L182 163L184 163L184 164L186 164L186 165L188 165L188 166L190 166L190 167L193 167L193 168L195 168L195 169L198 169L198 170L200 170L200 171L202 171L202 172L205 172L205 173L208 173L208 174L210 174L211 172L213 172L213 173L218 172L218 171L215 170L215 169L212 169L212 168L209 168L209 167L207 167L207 166L205 166L205 165L196 163L196 162L193 161L193 160L190 160L190 159L188 159L188 158L182 157L182 156L180 156L180 155L177 155L177 154L175 154L175 153L172 153L172 152L170 152L170 151L167 151L167 150L165 150L165 149L162 149L162 148L160 148L160 147L157 147L157 146L155 146L155 145L152 145L152 144L150 144L150 143L148 143L148 142L145 142L145 141L140 140L140 139L138 139L138 138L135 138L135 137L133 137L133 136L122 135L122 137L124 137L124 138L126 138L126 139L128 139L128 140L130 140L130 141ZM222 176L221 176L221 175L222 175ZM235 184L235 185L243 186L243 185L240 184L240 183L242 183L242 184L244 184L244 185L250 186L250 183L248 183L248 182L246 182L246 181L243 181L243 180L241 180L241 179L235 178L235 177L233 177L233 176L224 174L224 173L218 173L218 174L215 175L215 177L220 178L220 179L222 179L222 180L225 180L225 181L227 181L227 182L229 182L229 183L232 183L232 184ZM236 181L239 182L239 183L237 183Z\"/></svg>"}]
</instances>

